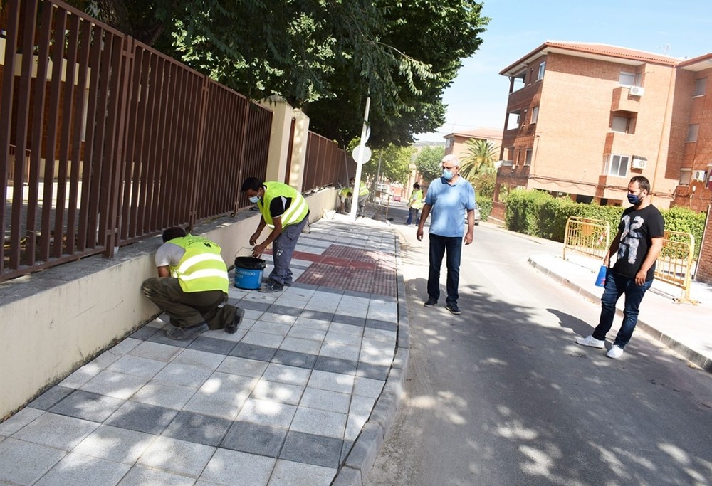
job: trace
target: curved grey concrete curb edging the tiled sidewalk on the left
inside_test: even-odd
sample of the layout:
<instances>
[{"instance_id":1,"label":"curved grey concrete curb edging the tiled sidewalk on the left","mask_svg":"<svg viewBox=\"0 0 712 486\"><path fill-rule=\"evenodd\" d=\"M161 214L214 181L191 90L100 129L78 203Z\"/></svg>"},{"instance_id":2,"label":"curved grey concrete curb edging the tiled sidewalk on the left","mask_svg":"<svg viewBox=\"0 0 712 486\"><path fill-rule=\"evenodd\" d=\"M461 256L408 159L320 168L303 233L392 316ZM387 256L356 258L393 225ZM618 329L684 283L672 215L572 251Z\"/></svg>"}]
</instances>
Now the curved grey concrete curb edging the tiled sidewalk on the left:
<instances>
[{"instance_id":1,"label":"curved grey concrete curb edging the tiled sidewalk on the left","mask_svg":"<svg viewBox=\"0 0 712 486\"><path fill-rule=\"evenodd\" d=\"M394 351L391 369L378 397L371 416L361 429L361 433L340 467L334 480L334 486L363 486L368 472L378 457L378 451L385 440L388 430L393 425L398 405L403 394L405 378L408 371L410 328L407 305L405 301L405 280L402 273L400 242L397 234L395 240L395 256L398 288L398 339Z\"/></svg>"}]
</instances>

